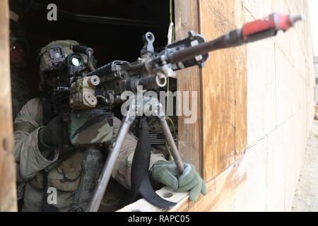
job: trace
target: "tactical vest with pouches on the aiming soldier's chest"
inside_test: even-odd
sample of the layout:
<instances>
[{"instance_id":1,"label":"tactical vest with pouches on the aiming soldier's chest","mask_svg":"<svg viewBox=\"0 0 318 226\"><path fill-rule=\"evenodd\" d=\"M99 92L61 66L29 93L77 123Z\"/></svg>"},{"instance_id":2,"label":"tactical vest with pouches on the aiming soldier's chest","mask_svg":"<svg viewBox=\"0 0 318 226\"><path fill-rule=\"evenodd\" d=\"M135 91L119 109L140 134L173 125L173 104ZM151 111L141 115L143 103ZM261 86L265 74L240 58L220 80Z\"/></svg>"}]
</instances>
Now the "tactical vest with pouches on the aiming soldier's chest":
<instances>
[{"instance_id":1,"label":"tactical vest with pouches on the aiming soldier's chest","mask_svg":"<svg viewBox=\"0 0 318 226\"><path fill-rule=\"evenodd\" d=\"M66 159L61 156L52 167L47 167L30 181L31 186L43 191L42 211L59 211L57 206L47 205L47 189L50 187L57 189L57 194L69 192L73 196L73 201L64 201L67 203L64 205L69 206L69 211L86 210L93 196L105 156L98 148L71 152L73 153L69 156L66 154Z\"/></svg>"}]
</instances>

